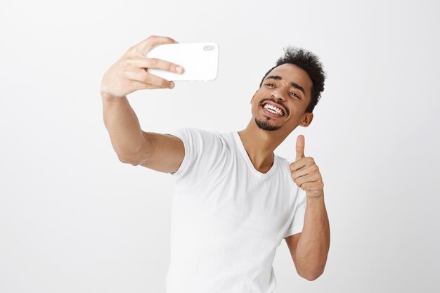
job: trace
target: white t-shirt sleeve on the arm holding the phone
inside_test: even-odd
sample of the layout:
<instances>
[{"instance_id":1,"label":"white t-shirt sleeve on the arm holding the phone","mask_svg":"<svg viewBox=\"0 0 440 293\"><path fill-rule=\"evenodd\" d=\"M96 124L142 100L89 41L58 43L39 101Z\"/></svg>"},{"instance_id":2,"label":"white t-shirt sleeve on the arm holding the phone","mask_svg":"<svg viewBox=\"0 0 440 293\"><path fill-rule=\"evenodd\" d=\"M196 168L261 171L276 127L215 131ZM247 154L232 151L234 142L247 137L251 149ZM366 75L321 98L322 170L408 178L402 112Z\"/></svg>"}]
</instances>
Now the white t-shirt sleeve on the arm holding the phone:
<instances>
[{"instance_id":1,"label":"white t-shirt sleeve on the arm holding the phone","mask_svg":"<svg viewBox=\"0 0 440 293\"><path fill-rule=\"evenodd\" d=\"M197 184L219 164L222 143L218 134L195 128L181 128L168 134L181 139L185 148L183 161L172 174L183 187Z\"/></svg>"}]
</instances>

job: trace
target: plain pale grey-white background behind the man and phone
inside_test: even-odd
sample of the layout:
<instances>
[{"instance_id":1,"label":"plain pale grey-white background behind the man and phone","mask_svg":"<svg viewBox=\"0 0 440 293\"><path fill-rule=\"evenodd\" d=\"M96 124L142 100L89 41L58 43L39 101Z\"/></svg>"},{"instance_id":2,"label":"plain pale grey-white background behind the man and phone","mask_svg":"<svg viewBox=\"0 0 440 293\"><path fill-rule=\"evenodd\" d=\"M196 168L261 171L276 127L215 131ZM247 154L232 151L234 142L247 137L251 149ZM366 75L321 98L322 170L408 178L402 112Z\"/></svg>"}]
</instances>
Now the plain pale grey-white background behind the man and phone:
<instances>
[{"instance_id":1,"label":"plain pale grey-white background behind the man and phone","mask_svg":"<svg viewBox=\"0 0 440 293\"><path fill-rule=\"evenodd\" d=\"M164 292L173 179L119 162L99 94L104 72L151 34L216 41L219 77L129 95L144 131L244 129L284 46L325 66L311 126L276 153L295 159L304 134L321 169L328 264L318 280L300 278L283 241L275 292L439 291L439 8L2 1L0 292Z\"/></svg>"}]
</instances>

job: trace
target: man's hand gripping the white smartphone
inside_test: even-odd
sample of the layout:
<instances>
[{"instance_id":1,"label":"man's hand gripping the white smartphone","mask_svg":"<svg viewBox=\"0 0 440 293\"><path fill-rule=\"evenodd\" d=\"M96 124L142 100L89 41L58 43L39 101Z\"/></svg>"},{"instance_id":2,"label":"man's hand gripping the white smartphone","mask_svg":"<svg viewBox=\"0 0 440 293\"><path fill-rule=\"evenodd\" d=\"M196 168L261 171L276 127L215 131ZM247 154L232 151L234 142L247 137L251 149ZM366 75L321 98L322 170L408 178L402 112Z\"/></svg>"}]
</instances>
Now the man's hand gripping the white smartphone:
<instances>
[{"instance_id":1,"label":"man's hand gripping the white smartphone","mask_svg":"<svg viewBox=\"0 0 440 293\"><path fill-rule=\"evenodd\" d=\"M174 82L148 72L148 68L182 73L183 68L157 58L146 58L148 51L160 44L178 43L169 37L150 36L132 46L105 72L101 82L101 95L124 97L138 89L172 89Z\"/></svg>"}]
</instances>

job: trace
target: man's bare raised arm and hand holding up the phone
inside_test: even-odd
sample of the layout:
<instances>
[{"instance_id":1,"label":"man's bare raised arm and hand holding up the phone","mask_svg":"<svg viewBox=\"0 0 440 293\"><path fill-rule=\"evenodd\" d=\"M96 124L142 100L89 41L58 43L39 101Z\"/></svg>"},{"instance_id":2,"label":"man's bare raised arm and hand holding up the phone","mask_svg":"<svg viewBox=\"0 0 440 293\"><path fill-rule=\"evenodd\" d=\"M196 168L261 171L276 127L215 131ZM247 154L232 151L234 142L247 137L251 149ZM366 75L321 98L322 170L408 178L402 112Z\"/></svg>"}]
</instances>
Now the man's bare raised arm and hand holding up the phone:
<instances>
[{"instance_id":1,"label":"man's bare raised arm and hand holding up the phone","mask_svg":"<svg viewBox=\"0 0 440 293\"><path fill-rule=\"evenodd\" d=\"M167 173L179 169L184 155L183 143L175 136L142 131L127 95L139 89L174 87L173 82L150 74L148 68L177 73L183 72L183 68L165 60L145 57L151 48L174 42L168 37L148 37L129 48L105 72L101 83L104 124L119 160Z\"/></svg>"}]
</instances>

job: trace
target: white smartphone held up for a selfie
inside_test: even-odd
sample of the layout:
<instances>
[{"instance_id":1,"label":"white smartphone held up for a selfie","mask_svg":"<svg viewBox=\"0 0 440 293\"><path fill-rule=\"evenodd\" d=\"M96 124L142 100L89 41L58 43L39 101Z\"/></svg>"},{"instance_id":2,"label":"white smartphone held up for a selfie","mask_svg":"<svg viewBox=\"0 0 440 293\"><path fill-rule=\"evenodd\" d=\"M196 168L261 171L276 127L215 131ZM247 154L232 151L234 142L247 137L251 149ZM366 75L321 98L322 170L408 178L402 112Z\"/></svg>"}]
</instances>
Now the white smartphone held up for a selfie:
<instances>
[{"instance_id":1,"label":"white smartphone held up for a selfie","mask_svg":"<svg viewBox=\"0 0 440 293\"><path fill-rule=\"evenodd\" d=\"M207 81L217 77L219 45L216 43L162 44L147 53L147 58L159 58L183 67L183 73L148 68L148 72L170 81Z\"/></svg>"}]
</instances>

